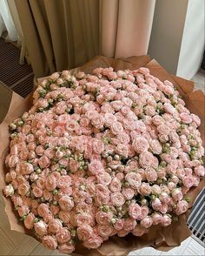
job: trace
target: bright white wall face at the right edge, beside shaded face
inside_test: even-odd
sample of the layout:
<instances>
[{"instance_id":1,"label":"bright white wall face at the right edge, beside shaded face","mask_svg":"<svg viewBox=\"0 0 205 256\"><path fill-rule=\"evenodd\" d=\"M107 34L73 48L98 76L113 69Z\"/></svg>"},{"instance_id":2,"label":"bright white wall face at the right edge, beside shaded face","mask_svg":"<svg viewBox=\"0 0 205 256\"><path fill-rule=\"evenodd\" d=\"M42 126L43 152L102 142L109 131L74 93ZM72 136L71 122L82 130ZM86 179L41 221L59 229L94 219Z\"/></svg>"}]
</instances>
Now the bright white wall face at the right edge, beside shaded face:
<instances>
[{"instance_id":1,"label":"bright white wall face at the right edge, beside shaded face","mask_svg":"<svg viewBox=\"0 0 205 256\"><path fill-rule=\"evenodd\" d=\"M176 75L190 79L202 64L205 44L205 1L188 0Z\"/></svg>"}]
</instances>

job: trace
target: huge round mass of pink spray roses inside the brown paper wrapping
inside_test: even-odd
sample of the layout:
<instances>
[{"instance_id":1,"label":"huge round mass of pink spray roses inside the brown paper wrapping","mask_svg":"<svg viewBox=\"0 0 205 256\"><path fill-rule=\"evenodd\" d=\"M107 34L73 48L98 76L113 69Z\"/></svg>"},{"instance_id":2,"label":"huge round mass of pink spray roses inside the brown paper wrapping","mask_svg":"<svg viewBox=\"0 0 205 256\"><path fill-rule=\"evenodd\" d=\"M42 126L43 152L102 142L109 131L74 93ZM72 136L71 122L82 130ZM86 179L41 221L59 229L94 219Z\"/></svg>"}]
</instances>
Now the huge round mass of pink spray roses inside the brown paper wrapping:
<instances>
[{"instance_id":1,"label":"huge round mass of pink spray roses inside the brown paper wrapping","mask_svg":"<svg viewBox=\"0 0 205 256\"><path fill-rule=\"evenodd\" d=\"M56 72L10 124L4 194L52 250L142 236L188 210L186 193L204 175L199 125L147 68Z\"/></svg>"}]
</instances>

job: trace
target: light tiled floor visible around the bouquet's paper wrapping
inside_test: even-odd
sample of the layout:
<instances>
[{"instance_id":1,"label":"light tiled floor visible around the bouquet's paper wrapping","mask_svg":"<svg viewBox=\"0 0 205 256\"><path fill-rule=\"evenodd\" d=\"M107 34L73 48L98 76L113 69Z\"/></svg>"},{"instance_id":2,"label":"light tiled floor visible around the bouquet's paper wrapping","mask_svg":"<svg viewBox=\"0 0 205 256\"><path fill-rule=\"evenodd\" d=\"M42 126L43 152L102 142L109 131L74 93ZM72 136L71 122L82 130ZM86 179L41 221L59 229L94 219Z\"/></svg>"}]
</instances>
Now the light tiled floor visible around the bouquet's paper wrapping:
<instances>
[{"instance_id":1,"label":"light tiled floor visible around the bouquet's paper wrapping","mask_svg":"<svg viewBox=\"0 0 205 256\"><path fill-rule=\"evenodd\" d=\"M193 80L196 82L195 89L204 91L205 78L204 71L200 71ZM0 255L64 255L57 251L45 249L36 239L30 238L19 232L10 230L9 221L4 212L4 203L0 195ZM204 247L193 238L188 238L182 242L181 246L175 247L167 253L156 251L151 247L129 253L129 256L135 255L205 255Z\"/></svg>"}]
</instances>

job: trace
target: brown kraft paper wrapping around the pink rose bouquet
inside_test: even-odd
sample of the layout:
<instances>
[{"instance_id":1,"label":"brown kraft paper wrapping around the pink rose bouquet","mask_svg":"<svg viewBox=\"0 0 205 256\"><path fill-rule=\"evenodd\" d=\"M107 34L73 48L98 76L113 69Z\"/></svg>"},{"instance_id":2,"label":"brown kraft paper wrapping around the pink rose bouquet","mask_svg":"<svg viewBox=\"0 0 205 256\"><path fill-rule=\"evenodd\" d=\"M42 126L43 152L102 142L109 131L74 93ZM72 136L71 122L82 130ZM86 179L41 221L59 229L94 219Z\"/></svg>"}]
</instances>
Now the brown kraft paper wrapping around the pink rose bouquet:
<instances>
[{"instance_id":1,"label":"brown kraft paper wrapping around the pink rose bouquet","mask_svg":"<svg viewBox=\"0 0 205 256\"><path fill-rule=\"evenodd\" d=\"M141 57L129 57L126 59L113 59L109 57L94 57L89 63L83 65L80 68L72 70L74 73L78 70L89 73L96 67L109 67L112 66L117 70L136 70L141 66L148 67L150 73L161 79L169 80L180 91L182 98L185 100L186 105L190 111L198 115L202 120L202 125L199 130L202 134L203 145L204 145L204 102L205 97L202 91L193 91L194 83L183 79L181 77L175 77L170 75L165 71L160 64L155 60L150 61L149 56ZM41 78L38 79L40 81ZM3 119L3 123L0 125L0 187L3 188L5 185L4 175L8 170L4 165L4 159L9 152L10 134L8 125L10 121L15 118L20 117L24 111L28 111L31 105L30 95L28 98L21 98L15 92L12 93L12 98L10 101L9 110L6 117ZM204 185L204 179L200 182L199 186L191 189L188 192L188 197L190 197L190 208L195 202L195 198L198 193L202 191ZM14 211L14 207L10 199L4 198L5 201L5 212L7 213L8 219L10 221L10 229L26 233L34 237L33 233L26 230L23 227L23 223L19 222L19 217ZM76 251L74 255L127 255L129 252L140 249L145 246L152 246L157 250L169 251L175 246L180 246L184 239L190 236L191 232L188 229L186 220L188 219L188 214L182 214L177 222L173 222L172 225L167 227L162 226L152 226L149 233L144 234L142 237L135 237L131 234L124 238L118 238L116 236L111 237L108 241L104 242L102 246L96 250L89 250L81 246L80 244L76 246Z\"/></svg>"}]
</instances>

